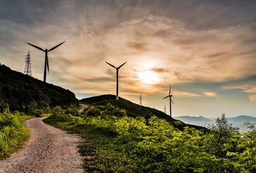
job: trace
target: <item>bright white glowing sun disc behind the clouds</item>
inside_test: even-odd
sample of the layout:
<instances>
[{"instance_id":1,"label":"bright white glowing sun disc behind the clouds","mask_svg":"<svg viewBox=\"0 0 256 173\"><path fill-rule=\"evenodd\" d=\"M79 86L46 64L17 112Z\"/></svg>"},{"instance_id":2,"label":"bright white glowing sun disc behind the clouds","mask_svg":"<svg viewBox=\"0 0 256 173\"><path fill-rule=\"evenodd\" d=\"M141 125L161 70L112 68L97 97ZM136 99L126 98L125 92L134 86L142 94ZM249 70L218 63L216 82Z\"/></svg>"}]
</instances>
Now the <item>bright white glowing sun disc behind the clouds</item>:
<instances>
[{"instance_id":1,"label":"bright white glowing sun disc behind the clouds","mask_svg":"<svg viewBox=\"0 0 256 173\"><path fill-rule=\"evenodd\" d=\"M143 83L154 84L160 81L159 75L153 71L142 71L138 74Z\"/></svg>"}]
</instances>

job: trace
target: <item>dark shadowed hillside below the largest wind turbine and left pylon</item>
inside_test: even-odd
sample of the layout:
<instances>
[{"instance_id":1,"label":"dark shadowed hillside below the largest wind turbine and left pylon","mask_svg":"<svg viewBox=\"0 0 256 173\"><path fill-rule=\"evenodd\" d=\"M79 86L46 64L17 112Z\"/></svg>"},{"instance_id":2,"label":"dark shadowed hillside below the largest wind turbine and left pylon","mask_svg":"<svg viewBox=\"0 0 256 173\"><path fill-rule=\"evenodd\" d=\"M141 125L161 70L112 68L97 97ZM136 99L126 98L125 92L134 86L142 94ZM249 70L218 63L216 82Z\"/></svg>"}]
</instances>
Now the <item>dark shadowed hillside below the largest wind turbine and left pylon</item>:
<instances>
[{"instance_id":1,"label":"dark shadowed hillside below the largest wind turbine and left pylon","mask_svg":"<svg viewBox=\"0 0 256 173\"><path fill-rule=\"evenodd\" d=\"M0 112L32 112L55 106L67 107L78 103L75 94L60 86L44 83L28 75L0 65Z\"/></svg>"}]
</instances>

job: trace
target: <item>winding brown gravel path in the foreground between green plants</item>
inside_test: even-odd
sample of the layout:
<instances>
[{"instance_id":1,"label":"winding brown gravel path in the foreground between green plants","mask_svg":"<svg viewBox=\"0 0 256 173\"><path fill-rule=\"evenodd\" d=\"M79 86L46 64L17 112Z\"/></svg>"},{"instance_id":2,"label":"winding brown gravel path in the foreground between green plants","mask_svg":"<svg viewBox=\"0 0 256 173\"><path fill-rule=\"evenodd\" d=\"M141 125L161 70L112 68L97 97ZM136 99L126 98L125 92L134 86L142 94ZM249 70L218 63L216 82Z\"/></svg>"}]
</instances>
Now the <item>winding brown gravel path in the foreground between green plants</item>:
<instances>
[{"instance_id":1,"label":"winding brown gravel path in the foreground between green plants","mask_svg":"<svg viewBox=\"0 0 256 173\"><path fill-rule=\"evenodd\" d=\"M0 160L0 172L83 172L80 138L42 122L26 121L31 138L19 152Z\"/></svg>"}]
</instances>

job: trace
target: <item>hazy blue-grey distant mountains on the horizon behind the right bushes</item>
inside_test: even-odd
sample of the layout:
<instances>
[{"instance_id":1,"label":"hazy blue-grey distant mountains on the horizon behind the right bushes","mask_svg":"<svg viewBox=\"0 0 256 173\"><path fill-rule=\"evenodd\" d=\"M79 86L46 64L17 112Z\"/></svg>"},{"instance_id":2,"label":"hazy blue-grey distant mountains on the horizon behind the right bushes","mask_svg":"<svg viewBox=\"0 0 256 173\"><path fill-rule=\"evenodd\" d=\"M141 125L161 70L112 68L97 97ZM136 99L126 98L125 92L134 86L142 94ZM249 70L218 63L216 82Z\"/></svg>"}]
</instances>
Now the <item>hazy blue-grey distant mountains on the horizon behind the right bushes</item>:
<instances>
[{"instance_id":1,"label":"hazy blue-grey distant mountains on the horizon behind the right bushes","mask_svg":"<svg viewBox=\"0 0 256 173\"><path fill-rule=\"evenodd\" d=\"M209 124L215 124L215 119L213 118L205 118L203 116L177 116L177 117L173 117L177 120L181 120L187 124L194 124L197 126L209 126ZM230 124L232 124L234 127L238 127L240 129L240 132L247 132L249 129L244 126L245 122L251 122L251 123L255 123L256 122L256 117L253 116L245 116L245 115L241 115L241 116L236 116L233 118L227 118L227 122L229 122Z\"/></svg>"}]
</instances>

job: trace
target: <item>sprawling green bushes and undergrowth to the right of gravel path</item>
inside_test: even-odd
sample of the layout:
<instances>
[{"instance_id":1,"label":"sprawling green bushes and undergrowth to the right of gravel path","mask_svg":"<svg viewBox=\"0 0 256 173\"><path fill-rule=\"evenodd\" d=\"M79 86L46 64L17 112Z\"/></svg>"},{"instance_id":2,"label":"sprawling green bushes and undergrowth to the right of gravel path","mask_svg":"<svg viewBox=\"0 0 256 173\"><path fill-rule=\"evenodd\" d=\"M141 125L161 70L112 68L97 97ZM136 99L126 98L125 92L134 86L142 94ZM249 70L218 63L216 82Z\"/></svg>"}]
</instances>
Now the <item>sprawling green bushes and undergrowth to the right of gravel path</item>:
<instances>
[{"instance_id":1,"label":"sprawling green bushes and undergrowth to the right of gravel path","mask_svg":"<svg viewBox=\"0 0 256 173\"><path fill-rule=\"evenodd\" d=\"M239 134L225 114L209 132L185 126L179 130L157 116L127 116L111 104L82 114L55 108L45 120L85 138L81 153L90 172L255 172L255 124Z\"/></svg>"}]
</instances>

